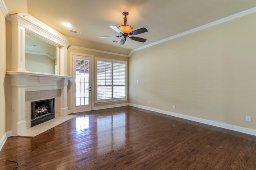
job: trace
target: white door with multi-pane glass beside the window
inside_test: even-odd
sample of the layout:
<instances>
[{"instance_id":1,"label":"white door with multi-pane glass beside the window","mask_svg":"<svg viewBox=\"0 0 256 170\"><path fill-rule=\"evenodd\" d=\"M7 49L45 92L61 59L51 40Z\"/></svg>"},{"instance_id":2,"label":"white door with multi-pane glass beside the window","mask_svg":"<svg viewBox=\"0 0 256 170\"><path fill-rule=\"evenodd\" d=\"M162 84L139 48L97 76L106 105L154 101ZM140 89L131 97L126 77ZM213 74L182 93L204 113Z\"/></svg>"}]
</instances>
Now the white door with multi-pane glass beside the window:
<instances>
[{"instance_id":1,"label":"white door with multi-pane glass beside the window","mask_svg":"<svg viewBox=\"0 0 256 170\"><path fill-rule=\"evenodd\" d=\"M92 57L72 55L73 112L92 110Z\"/></svg>"}]
</instances>

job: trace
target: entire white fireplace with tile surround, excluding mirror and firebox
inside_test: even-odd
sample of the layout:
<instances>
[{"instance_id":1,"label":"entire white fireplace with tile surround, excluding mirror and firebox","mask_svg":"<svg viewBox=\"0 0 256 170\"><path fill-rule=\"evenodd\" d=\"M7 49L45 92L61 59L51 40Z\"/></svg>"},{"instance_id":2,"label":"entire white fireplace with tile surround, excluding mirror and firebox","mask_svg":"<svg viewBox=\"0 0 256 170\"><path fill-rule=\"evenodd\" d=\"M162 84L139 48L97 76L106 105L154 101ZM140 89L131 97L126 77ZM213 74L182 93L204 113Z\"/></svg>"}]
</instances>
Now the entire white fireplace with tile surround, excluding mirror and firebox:
<instances>
[{"instance_id":1,"label":"entire white fireplace with tile surround, excluding mirror and firebox","mask_svg":"<svg viewBox=\"0 0 256 170\"><path fill-rule=\"evenodd\" d=\"M8 55L8 58L10 58L8 65L11 67L6 68L6 74L10 77L10 81L7 79L7 86L10 84L11 87L11 96L7 99L10 105L6 106L6 111L10 112L6 118L8 120L6 122L7 125L10 124L8 129L11 129L8 137L26 133L26 130L37 121L31 121L31 102L33 101L55 98L55 113L52 117L68 115L68 80L72 78L68 76L67 72L67 49L70 47L70 43L68 43L64 35L29 14L12 14L10 21L12 43L7 46L8 49L11 49L11 55ZM58 56L56 57L57 72L55 74L26 70L26 33L58 46ZM58 95L48 93L50 91L56 92ZM47 107L50 106L47 105ZM38 117L35 117L35 119L38 119Z\"/></svg>"}]
</instances>

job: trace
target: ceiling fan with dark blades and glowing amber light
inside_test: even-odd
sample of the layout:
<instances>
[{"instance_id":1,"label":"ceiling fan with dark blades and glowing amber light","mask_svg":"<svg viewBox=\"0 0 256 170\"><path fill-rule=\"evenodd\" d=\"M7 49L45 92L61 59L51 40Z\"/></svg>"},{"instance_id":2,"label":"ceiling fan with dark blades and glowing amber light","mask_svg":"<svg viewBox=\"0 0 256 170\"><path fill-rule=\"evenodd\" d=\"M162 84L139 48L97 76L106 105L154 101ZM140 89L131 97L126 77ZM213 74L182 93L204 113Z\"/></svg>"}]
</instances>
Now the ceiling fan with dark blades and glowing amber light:
<instances>
[{"instance_id":1,"label":"ceiling fan with dark blades and glowing amber light","mask_svg":"<svg viewBox=\"0 0 256 170\"><path fill-rule=\"evenodd\" d=\"M126 21L127 18L126 16L128 16L128 12L123 12L123 16L124 16L124 25L121 25L119 27L117 27L116 25L109 25L110 28L114 29L114 31L122 34L120 36L103 36L101 38L110 38L110 37L124 37L123 39L121 39L121 41L119 42L119 45L123 45L126 41L126 38L129 37L130 39L134 40L134 41L139 41L144 43L146 41L146 39L144 38L140 38L140 37L130 37L129 35L138 35L144 32L147 32L148 30L146 28L140 28L140 29L136 29L133 31L133 28L129 25L126 25Z\"/></svg>"}]
</instances>

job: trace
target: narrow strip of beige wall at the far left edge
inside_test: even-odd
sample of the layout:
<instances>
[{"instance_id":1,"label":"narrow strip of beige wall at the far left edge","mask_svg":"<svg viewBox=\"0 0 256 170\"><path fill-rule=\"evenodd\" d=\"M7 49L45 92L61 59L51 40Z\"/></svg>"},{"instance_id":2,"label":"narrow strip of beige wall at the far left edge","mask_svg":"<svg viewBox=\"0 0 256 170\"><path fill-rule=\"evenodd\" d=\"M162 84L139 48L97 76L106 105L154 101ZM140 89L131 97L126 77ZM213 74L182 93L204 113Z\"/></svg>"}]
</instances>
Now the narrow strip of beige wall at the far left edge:
<instances>
[{"instance_id":1,"label":"narrow strip of beige wall at the far left edge","mask_svg":"<svg viewBox=\"0 0 256 170\"><path fill-rule=\"evenodd\" d=\"M0 10L0 140L4 136L5 129L5 85L4 78L6 72L5 66L5 17L2 11Z\"/></svg>"}]
</instances>

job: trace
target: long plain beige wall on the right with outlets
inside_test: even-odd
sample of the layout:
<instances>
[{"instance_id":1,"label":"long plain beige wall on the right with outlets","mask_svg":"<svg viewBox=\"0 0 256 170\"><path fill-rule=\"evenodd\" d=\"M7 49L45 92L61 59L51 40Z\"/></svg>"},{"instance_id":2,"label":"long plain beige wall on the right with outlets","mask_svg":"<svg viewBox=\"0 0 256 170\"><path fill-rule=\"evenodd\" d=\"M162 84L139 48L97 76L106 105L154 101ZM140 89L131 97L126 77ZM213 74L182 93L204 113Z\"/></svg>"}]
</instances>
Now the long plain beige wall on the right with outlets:
<instances>
[{"instance_id":1,"label":"long plain beige wall on the right with outlets","mask_svg":"<svg viewBox=\"0 0 256 170\"><path fill-rule=\"evenodd\" d=\"M256 129L256 13L136 51L129 65L130 103Z\"/></svg>"}]
</instances>

